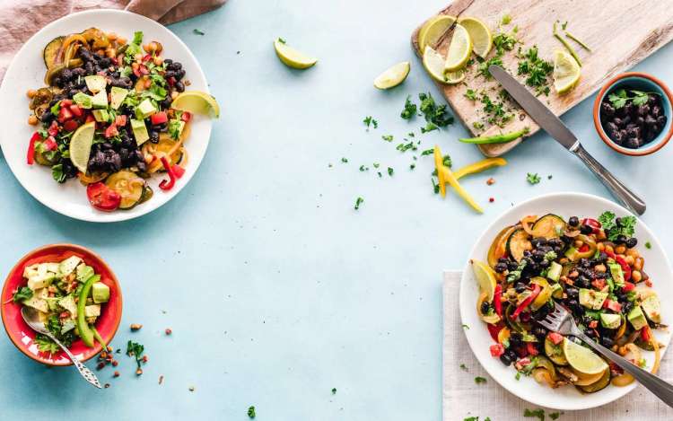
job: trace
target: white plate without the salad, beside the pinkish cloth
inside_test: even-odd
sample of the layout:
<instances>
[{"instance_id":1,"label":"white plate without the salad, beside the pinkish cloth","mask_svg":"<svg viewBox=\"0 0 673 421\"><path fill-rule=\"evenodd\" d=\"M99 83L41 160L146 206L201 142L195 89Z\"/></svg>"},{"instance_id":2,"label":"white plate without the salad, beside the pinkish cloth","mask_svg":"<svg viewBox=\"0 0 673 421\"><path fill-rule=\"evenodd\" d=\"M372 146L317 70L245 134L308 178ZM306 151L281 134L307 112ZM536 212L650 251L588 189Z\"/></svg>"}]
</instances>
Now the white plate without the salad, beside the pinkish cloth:
<instances>
[{"instance_id":1,"label":"white plate without the salad, beside the pinkish cloth","mask_svg":"<svg viewBox=\"0 0 673 421\"><path fill-rule=\"evenodd\" d=\"M150 186L154 190L152 199L127 211L118 210L112 213L97 211L89 205L86 189L77 180L71 179L64 184L58 184L51 178L48 167L26 164L28 141L36 129L26 122L31 115L26 92L44 86L46 68L42 61L42 49L51 39L59 35L84 31L92 26L102 31L116 32L127 39L133 39L135 31L143 31L145 43L149 40L160 41L164 50L163 57L182 63L187 71L185 78L191 82L189 90L208 92L208 83L197 59L173 32L159 23L139 14L118 10L92 10L69 14L49 23L33 35L16 53L7 69L0 87L0 115L4 120L0 145L4 159L16 179L43 205L60 214L83 221L106 223L124 221L152 212L175 197L187 185L205 155L212 122L209 118L200 116L192 119L191 135L186 142L189 164L185 175L178 180L176 186L169 192L162 191L158 185L163 177L155 175L150 180Z\"/></svg>"}]
</instances>

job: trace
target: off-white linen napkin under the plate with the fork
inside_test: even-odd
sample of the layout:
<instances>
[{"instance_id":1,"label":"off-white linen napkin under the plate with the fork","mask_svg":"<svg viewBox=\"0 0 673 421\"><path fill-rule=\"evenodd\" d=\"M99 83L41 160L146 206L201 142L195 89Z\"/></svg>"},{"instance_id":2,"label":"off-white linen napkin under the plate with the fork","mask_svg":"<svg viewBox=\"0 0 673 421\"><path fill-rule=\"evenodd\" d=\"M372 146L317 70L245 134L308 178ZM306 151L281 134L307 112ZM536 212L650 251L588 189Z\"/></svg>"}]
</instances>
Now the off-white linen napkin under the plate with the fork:
<instances>
[{"instance_id":1,"label":"off-white linen napkin under the plate with the fork","mask_svg":"<svg viewBox=\"0 0 673 421\"><path fill-rule=\"evenodd\" d=\"M523 417L524 410L538 409L522 399L504 390L485 372L468 346L459 314L459 297L456 288L460 282L460 271L445 271L443 281L443 396L442 409L444 421L462 421L467 417L491 417L492 421L530 420ZM668 354L668 353L667 353ZM670 356L663 358L659 375L668 382L673 381L673 364ZM465 364L468 371L461 370ZM487 382L476 384L476 376L482 376ZM540 386L544 387L544 386ZM543 408L548 414L562 412L558 421L664 421L673 420L673 409L661 402L642 386L615 402L593 409L581 411L558 411ZM537 419L537 418L532 418Z\"/></svg>"}]
</instances>

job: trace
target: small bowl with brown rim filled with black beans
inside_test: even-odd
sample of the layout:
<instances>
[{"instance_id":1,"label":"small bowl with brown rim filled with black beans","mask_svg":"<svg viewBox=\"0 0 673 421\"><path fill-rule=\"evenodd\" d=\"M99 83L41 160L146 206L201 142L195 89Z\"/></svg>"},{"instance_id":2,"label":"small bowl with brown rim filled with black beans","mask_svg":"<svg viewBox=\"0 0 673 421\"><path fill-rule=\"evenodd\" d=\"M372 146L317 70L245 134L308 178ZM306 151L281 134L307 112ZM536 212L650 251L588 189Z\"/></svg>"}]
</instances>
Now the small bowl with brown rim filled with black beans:
<instances>
[{"instance_id":1,"label":"small bowl with brown rim filled with black beans","mask_svg":"<svg viewBox=\"0 0 673 421\"><path fill-rule=\"evenodd\" d=\"M596 97L593 121L606 145L625 155L659 151L673 135L669 88L654 76L630 72L608 81Z\"/></svg>"}]
</instances>

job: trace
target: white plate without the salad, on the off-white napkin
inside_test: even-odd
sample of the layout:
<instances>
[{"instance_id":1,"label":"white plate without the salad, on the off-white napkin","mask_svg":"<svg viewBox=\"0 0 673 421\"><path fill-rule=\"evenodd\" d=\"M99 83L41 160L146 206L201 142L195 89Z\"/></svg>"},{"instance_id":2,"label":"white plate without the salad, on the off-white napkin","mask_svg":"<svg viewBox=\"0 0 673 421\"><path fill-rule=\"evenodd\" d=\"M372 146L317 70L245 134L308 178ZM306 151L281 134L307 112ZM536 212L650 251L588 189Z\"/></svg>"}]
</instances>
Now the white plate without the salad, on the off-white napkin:
<instances>
[{"instance_id":1,"label":"white plate without the salad, on the off-white napkin","mask_svg":"<svg viewBox=\"0 0 673 421\"><path fill-rule=\"evenodd\" d=\"M523 216L553 213L564 217L566 220L573 215L580 218L596 218L606 210L614 212L617 216L631 215L622 206L604 198L580 193L555 193L530 199L512 207L497 218L476 241L468 258L485 261L486 253L495 235L505 225L516 224ZM645 269L653 281L653 289L660 296L662 308L670 308L670 303L673 302L673 284L671 284L673 274L671 274L669 259L666 257L664 250L661 249L661 245L654 234L640 220L636 224L635 236L638 238L638 250L645 259ZM645 248L646 241L650 241L651 249ZM532 377L521 376L521 379L517 381L514 378L516 374L514 368L512 366L505 367L499 358L494 358L490 354L489 346L494 344L494 340L488 334L485 323L479 320L476 315L478 294L479 289L472 274L472 268L468 263L460 280L460 318L464 324L470 327L470 329L465 329L469 346L486 372L503 388L520 399L528 400L530 403L546 408L574 410L599 407L634 390L635 382L621 388L610 385L596 393L582 394L572 386L551 389L538 384ZM670 320L673 320L670 312L667 313L665 310L662 319L664 324L669 324ZM667 345L662 349L662 353L665 352L668 349L670 333L656 330L655 336L661 343ZM648 367L651 367L654 361L654 353L643 351L643 356L648 361Z\"/></svg>"}]
</instances>

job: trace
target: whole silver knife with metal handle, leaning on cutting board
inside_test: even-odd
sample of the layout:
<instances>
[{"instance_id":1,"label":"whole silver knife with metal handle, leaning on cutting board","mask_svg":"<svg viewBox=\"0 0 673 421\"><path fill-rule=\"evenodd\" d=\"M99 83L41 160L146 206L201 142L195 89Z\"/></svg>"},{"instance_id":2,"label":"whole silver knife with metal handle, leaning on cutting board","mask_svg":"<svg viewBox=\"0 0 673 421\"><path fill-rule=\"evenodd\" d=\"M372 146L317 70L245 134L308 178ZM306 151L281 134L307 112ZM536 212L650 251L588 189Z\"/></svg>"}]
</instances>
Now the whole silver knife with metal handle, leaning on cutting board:
<instances>
[{"instance_id":1,"label":"whole silver knife with metal handle, leaning on cutting board","mask_svg":"<svg viewBox=\"0 0 673 421\"><path fill-rule=\"evenodd\" d=\"M551 110L546 108L525 86L514 79L501 66L491 65L488 67L488 70L503 85L504 90L528 113L530 118L533 118L538 123L538 126L545 129L546 133L554 137L559 144L564 145L565 149L577 155L581 159L581 162L584 162L593 171L594 175L599 178L610 193L626 208L637 215L645 213L645 202L596 161L581 146L580 141L572 134L570 129L565 127L564 122L556 117Z\"/></svg>"}]
</instances>

